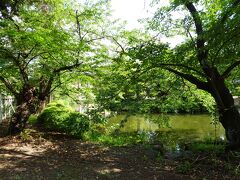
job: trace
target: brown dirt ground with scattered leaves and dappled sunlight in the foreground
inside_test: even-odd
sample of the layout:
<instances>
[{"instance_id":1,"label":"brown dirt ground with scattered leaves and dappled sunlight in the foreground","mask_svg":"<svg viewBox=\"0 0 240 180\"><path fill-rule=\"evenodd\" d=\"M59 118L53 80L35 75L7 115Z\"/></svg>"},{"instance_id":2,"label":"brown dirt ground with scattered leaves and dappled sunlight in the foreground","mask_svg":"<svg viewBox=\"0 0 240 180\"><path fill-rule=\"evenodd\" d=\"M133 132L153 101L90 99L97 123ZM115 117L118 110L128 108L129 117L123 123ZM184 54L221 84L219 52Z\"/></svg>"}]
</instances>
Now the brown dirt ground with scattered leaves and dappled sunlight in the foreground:
<instances>
[{"instance_id":1,"label":"brown dirt ground with scattered leaves and dappled sunlight in the foreground","mask_svg":"<svg viewBox=\"0 0 240 180\"><path fill-rule=\"evenodd\" d=\"M31 132L0 138L0 179L240 179L204 155L163 157L142 145L106 147Z\"/></svg>"}]
</instances>

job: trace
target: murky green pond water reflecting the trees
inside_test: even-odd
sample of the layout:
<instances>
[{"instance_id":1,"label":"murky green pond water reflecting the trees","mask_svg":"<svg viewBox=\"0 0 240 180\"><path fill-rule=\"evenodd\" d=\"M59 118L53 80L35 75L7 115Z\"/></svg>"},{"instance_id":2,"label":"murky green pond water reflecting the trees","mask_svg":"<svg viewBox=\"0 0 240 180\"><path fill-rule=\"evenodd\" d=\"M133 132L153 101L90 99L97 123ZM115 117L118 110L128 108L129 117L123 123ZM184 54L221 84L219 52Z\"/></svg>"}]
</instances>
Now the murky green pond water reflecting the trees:
<instances>
[{"instance_id":1,"label":"murky green pond water reflecting the trees","mask_svg":"<svg viewBox=\"0 0 240 180\"><path fill-rule=\"evenodd\" d=\"M160 119L165 119L162 123ZM225 132L221 124L212 123L210 115L117 115L110 119L109 125L121 124L121 132L146 132L149 136L158 138L168 144L176 146L184 142L207 139L225 139ZM159 123L161 122L161 123Z\"/></svg>"}]
</instances>

